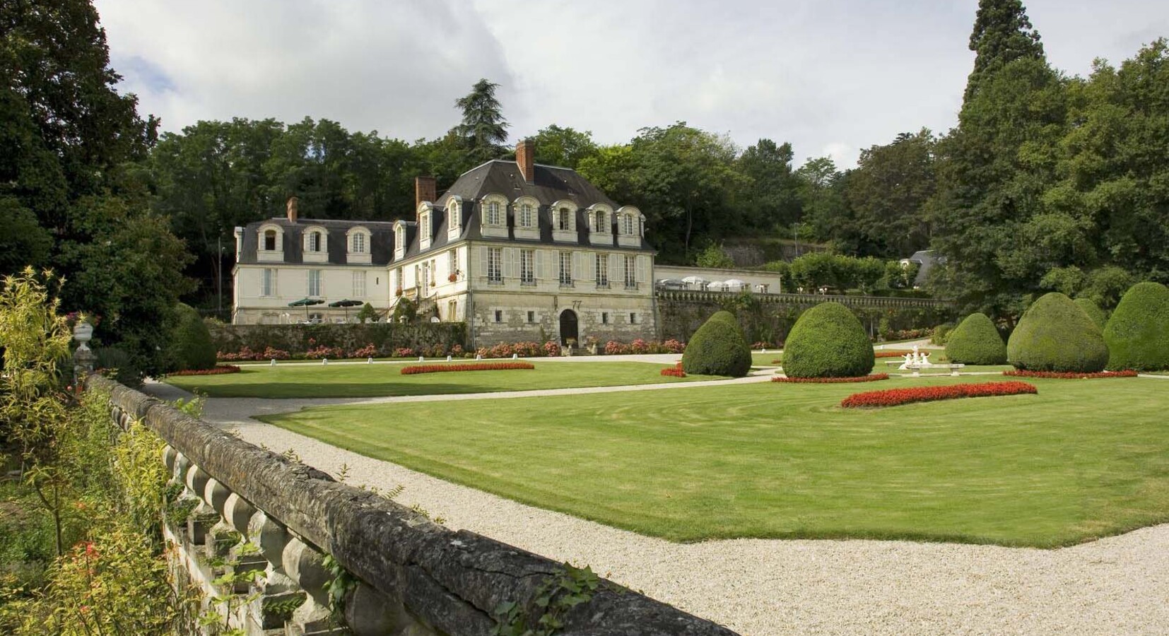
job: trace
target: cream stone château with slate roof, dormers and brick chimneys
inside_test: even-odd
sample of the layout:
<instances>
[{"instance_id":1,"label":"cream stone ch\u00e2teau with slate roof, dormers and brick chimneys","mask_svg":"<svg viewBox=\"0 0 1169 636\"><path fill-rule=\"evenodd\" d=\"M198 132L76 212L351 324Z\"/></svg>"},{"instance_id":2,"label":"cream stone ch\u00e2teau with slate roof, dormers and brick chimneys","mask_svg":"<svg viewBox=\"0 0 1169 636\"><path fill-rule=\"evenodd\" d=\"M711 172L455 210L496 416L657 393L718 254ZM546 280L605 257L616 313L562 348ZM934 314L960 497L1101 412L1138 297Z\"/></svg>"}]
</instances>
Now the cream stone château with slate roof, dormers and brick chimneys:
<instances>
[{"instance_id":1,"label":"cream stone ch\u00e2teau with slate roof, dormers and brick chimneys","mask_svg":"<svg viewBox=\"0 0 1169 636\"><path fill-rule=\"evenodd\" d=\"M430 320L466 322L475 346L656 337L645 216L569 168L492 160L442 195L415 180L413 221L285 217L236 228L233 322L333 322L338 300L392 312L403 298ZM299 299L319 299L307 309Z\"/></svg>"}]
</instances>

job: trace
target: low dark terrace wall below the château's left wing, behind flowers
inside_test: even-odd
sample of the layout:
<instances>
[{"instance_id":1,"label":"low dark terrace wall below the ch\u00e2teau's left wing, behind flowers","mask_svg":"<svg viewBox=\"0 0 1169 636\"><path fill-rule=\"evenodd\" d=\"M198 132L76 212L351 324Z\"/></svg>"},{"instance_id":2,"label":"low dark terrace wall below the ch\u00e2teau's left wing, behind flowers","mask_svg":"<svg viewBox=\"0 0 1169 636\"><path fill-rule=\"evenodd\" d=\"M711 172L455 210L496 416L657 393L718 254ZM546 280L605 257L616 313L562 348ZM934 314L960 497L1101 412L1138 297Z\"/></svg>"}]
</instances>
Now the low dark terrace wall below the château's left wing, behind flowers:
<instances>
[{"instance_id":1,"label":"low dark terrace wall below the ch\u00e2teau's left wing, behind flowers","mask_svg":"<svg viewBox=\"0 0 1169 636\"><path fill-rule=\"evenodd\" d=\"M343 347L345 351L373 344L379 355L388 355L397 347L454 345L466 347L464 323L420 324L320 324L320 325L208 325L216 351L238 352L247 346L253 351L265 347L291 353L304 352L313 346ZM310 343L312 340L312 343Z\"/></svg>"}]
</instances>

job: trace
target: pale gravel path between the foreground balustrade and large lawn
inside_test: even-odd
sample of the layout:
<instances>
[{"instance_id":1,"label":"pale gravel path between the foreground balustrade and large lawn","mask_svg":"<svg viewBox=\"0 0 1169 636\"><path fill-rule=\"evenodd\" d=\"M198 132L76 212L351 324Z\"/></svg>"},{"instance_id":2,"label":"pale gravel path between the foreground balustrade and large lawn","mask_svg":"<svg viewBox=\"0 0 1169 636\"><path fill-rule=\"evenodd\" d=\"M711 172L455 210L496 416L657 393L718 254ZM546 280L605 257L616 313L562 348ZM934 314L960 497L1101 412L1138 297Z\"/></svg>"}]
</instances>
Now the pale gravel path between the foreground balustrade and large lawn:
<instances>
[{"instance_id":1,"label":"pale gravel path between the foreground balustrade and large lawn","mask_svg":"<svg viewBox=\"0 0 1169 636\"><path fill-rule=\"evenodd\" d=\"M167 385L148 388L165 399L186 395ZM555 390L599 389L614 387ZM401 503L422 505L449 527L588 564L745 635L1169 634L1169 525L1054 551L862 540L673 544L443 482L243 415L397 400L212 399L205 419L272 450L295 449L331 473L345 465L352 484L401 484Z\"/></svg>"}]
</instances>

